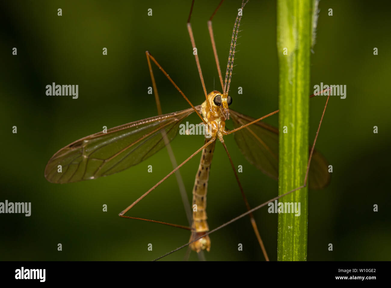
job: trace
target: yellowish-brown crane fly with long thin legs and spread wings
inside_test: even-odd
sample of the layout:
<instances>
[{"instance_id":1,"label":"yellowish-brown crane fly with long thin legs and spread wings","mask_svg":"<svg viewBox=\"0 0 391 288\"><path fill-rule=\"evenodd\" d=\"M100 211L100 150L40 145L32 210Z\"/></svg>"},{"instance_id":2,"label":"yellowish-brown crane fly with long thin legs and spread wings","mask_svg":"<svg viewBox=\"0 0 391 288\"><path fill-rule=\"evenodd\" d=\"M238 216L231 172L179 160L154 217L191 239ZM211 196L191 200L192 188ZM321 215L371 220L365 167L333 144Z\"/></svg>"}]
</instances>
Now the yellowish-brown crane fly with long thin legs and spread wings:
<instances>
[{"instance_id":1,"label":"yellowish-brown crane fly with long thin legs and spread wings","mask_svg":"<svg viewBox=\"0 0 391 288\"><path fill-rule=\"evenodd\" d=\"M237 45L237 38L243 9L247 4L248 0L242 1L241 8L239 9L241 13L237 13L235 18L232 36L230 39L230 51L224 81L219 65L212 28L213 16L217 13L222 2L223 0L217 6L214 13L210 17L210 20L208 21L208 30L212 42L215 62L217 65L217 72L219 74L221 91L216 90L207 93L203 75L201 72L199 58L197 53L195 53L195 62L201 79L205 100L201 105L194 106L190 102L190 100L188 100L187 96L185 96L185 94L181 91L181 89L179 89L176 83L170 78L170 76L163 69L163 67L161 67L157 60L151 55L151 53L146 51L147 63L149 66L153 91L159 115L120 125L118 127L108 129L105 132L98 132L90 136L81 138L65 146L64 148L56 152L56 154L54 154L52 158L50 158L50 160L48 161L45 168L45 178L52 183L71 183L108 176L125 170L131 166L137 165L163 149L163 147L169 148L170 141L172 141L172 139L174 139L175 136L178 134L179 125L181 124L181 122L192 113L195 113L197 114L197 116L199 116L202 123L205 124L204 145L200 147L197 151L195 151L192 155L190 155L181 164L174 165L174 162L172 162L175 167L174 170L172 170L169 174L167 174L167 176L161 179L161 181L156 183L151 189L149 189L131 205L125 208L122 212L120 212L119 216L162 223L165 225L188 229L191 231L191 234L190 241L186 245L189 245L190 248L196 252L201 252L202 250L209 251L211 247L209 234L213 230L209 230L208 223L206 221L206 194L208 190L208 179L213 158L213 152L215 150L216 142L219 141L222 143L222 146L226 151L226 154L228 155L231 167L233 169L235 178L240 188L240 192L242 193L242 197L248 210L248 212L242 214L242 216L249 215L251 225L253 226L253 230L255 232L258 243L262 249L265 259L268 260L268 256L265 251L262 239L260 237L260 233L256 226L255 219L252 215L252 212L253 210L255 210L255 208L251 209L246 199L242 185L239 181L237 171L235 169L235 166L233 165L233 161L230 157L228 148L226 147L223 138L226 135L234 134L235 141L239 146L239 149L242 154L244 154L245 158L267 176L277 179L278 129L262 122L261 120L273 114L276 114L278 110L256 119L230 109L230 105L233 103L233 97L229 95L229 91L230 83L232 80L235 48ZM196 49L193 31L190 24L190 17L192 14L193 5L194 0L192 2L190 14L187 21L187 29L192 43L192 47L193 49ZM174 85L174 87L179 91L183 98L188 102L191 108L169 114L161 113L160 100L156 88L156 83L154 80L154 74L152 72L151 62L158 66L158 68L168 78L172 85ZM312 96L315 95L312 94L310 97ZM324 112L325 110L323 110L323 115ZM323 115L321 119L323 119ZM233 121L234 129L226 129L225 125L226 121L228 120ZM318 131L319 128L320 123ZM208 134L208 137L206 134ZM330 174L327 172L327 161L319 152L314 150L315 142L316 138L314 144L312 145L312 149L310 149L310 159L308 161L307 174L304 185L306 185L308 176L309 187L313 189L320 189L325 187L329 183ZM133 206L135 206L152 190L154 190L161 183L163 183L165 179L174 174L180 167L182 167L187 161L189 161L199 152L201 152L201 160L195 175L195 183L192 191L193 211L192 220L190 223L191 227L185 227L181 225L125 215ZM311 160L312 165L309 166ZM60 165L61 170L58 170ZM310 169L308 170L309 167ZM300 187L294 190L298 190L299 188ZM290 192L293 192L294 190ZM274 199L278 199L279 197L276 197ZM260 206L258 206L258 208Z\"/></svg>"}]
</instances>

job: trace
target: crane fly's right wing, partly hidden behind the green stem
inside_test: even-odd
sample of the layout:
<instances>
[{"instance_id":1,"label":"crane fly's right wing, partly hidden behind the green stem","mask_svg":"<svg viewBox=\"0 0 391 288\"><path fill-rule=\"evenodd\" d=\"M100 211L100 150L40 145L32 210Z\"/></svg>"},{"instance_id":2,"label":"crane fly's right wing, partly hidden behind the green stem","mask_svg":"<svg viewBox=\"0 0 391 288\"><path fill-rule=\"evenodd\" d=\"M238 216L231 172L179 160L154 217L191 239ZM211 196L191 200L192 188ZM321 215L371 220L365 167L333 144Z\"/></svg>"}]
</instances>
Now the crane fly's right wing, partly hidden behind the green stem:
<instances>
[{"instance_id":1,"label":"crane fly's right wing, partly hidden behind the green stem","mask_svg":"<svg viewBox=\"0 0 391 288\"><path fill-rule=\"evenodd\" d=\"M234 127L240 127L255 118L230 109ZM278 179L278 129L262 121L235 132L235 141L246 159L271 178ZM314 150L308 185L311 189L321 189L330 183L328 163L322 154Z\"/></svg>"}]
</instances>

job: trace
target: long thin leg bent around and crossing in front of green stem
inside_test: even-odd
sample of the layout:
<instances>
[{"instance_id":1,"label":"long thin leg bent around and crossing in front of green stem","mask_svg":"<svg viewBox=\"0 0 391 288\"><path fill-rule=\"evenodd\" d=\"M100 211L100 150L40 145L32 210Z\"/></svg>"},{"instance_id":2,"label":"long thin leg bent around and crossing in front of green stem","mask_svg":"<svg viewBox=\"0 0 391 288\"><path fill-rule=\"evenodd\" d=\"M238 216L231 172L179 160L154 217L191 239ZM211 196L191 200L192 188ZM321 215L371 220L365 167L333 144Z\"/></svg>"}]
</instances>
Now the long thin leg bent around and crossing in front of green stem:
<instances>
[{"instance_id":1,"label":"long thin leg bent around and crossing in front of green stem","mask_svg":"<svg viewBox=\"0 0 391 288\"><path fill-rule=\"evenodd\" d=\"M321 91L321 92L325 92L325 91L330 91L330 88L325 89L325 90L323 90L323 91ZM321 92L319 92L319 93L321 93ZM316 96L316 95L318 95L318 94L312 94L310 97L314 97L314 96ZM282 195L280 195L280 196L276 196L276 197L274 197L274 198L272 198L272 199L270 199L270 200L268 200L268 201L266 201L266 202L264 202L264 203L262 203L262 204L256 206L255 208L252 208L251 210L249 210L249 211L247 211L247 212L245 212L245 213L243 213L243 214L241 214L241 215L239 215L239 216L237 216L237 217L231 219L230 221L228 221L228 222L226 222L226 223L224 223L224 224L218 226L217 228L214 228L214 229L212 229L212 230L206 232L202 237L205 237L206 235L209 235L209 234L211 234L211 233L213 233L213 232L215 232L215 231L217 231L217 230L220 230L221 228L223 228L223 227L225 227L225 226L227 226L227 225L230 225L231 223L233 223L233 222L235 222L235 221L237 221L237 220L243 218L244 216L247 216L247 215L251 214L252 212L258 210L259 208L262 208L263 206L266 206L266 205L267 205L268 203L270 203L270 202L273 202L273 201L275 201L275 200L278 200L278 199L280 199L280 198L282 198L282 197L284 197L284 196L286 196L286 195L288 195L288 194L291 194L291 193L293 193L293 192L295 192L295 191L297 191L297 190L300 190L301 188L304 188L304 187L307 186L308 173L309 173L309 167L310 167L310 163L311 163L311 159L312 159L312 153L313 153L314 148L315 148L315 144L316 144L316 140L317 140L317 135L318 135L318 133L319 133L319 130L320 130L320 127L321 127L321 124L322 124L322 121L323 121L323 116L325 115L325 111L326 111L326 107L327 107L327 103L328 103L329 98L330 98L330 93L328 94L328 97L327 97L327 100L326 100L326 104L325 104L325 108L323 109L323 113L322 113L322 116L321 116L321 120L319 121L319 126L318 126L318 129L317 129L317 132L316 132L316 136L315 136L315 139L314 139L314 143L312 144L312 147L311 147L311 153L310 153L310 157L309 157L309 159L308 159L307 171L306 171L306 173L305 173L305 178L304 178L304 181L303 181L303 185L301 185L300 187L294 188L294 189L292 189L292 190L290 190L290 191L288 191L288 192L286 192L286 193L284 193L284 194L282 194ZM239 127L239 128L240 128L240 127ZM170 255L170 254L172 254L172 253L174 253L174 252L176 252L176 251L178 251L178 250L180 250L180 249L186 247L187 245L190 245L191 243L193 243L193 242L195 242L195 241L198 241L198 240L201 239L202 237L199 237L199 238L194 239L193 241L191 241L191 242L189 242L189 243L186 243L186 244L184 244L184 245L182 245L182 246L179 246L178 248L176 248L176 249L174 249L174 250L172 250L172 251L170 251L170 252L168 252L168 253L166 253L166 254L160 256L159 258L156 258L154 261L159 260L159 259L161 259L161 258L163 258L163 257L165 257L165 256L167 256L167 255Z\"/></svg>"}]
</instances>

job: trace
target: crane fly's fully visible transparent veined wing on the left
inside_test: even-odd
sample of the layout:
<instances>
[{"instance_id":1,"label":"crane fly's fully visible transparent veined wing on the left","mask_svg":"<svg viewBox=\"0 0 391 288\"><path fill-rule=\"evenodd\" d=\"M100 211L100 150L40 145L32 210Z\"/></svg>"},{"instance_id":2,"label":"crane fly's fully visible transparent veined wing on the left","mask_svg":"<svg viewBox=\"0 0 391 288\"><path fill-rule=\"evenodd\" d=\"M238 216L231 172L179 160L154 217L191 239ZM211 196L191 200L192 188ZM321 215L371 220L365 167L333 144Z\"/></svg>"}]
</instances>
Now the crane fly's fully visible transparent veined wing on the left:
<instances>
[{"instance_id":1,"label":"crane fly's fully visible transparent veined wing on the left","mask_svg":"<svg viewBox=\"0 0 391 288\"><path fill-rule=\"evenodd\" d=\"M199 110L199 106L195 107ZM163 134L174 139L181 121L192 108L155 116L79 139L59 150L48 161L45 178L70 183L108 176L149 158L165 146ZM62 172L58 172L58 165Z\"/></svg>"}]
</instances>

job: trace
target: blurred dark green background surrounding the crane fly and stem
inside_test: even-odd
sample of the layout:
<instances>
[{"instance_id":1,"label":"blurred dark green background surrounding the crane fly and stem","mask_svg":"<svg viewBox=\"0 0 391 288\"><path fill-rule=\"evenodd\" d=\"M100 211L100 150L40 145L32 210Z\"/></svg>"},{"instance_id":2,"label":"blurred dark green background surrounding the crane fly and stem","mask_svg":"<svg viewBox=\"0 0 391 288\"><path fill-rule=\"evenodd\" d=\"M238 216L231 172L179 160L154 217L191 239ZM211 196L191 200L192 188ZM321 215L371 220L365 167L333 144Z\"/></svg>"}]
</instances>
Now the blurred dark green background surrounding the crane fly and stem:
<instances>
[{"instance_id":1,"label":"blurred dark green background surrounding the crane fly and stem","mask_svg":"<svg viewBox=\"0 0 391 288\"><path fill-rule=\"evenodd\" d=\"M203 90L186 21L191 1L9 1L0 4L2 55L0 201L31 202L32 214L0 215L0 260L152 260L186 243L190 233L122 219L118 213L172 169L167 150L128 170L93 181L52 184L45 165L60 148L102 130L157 114L145 51L156 58L194 105ZM220 89L206 22L219 0L196 0L195 43L208 92ZM240 0L226 1L213 20L221 67L226 65ZM63 16L57 16L61 8ZM147 16L147 9L152 16ZM333 16L328 16L328 9ZM308 260L391 260L389 1L321 1L311 87L347 85L332 97L317 141L333 165L330 185L309 192ZM251 0L244 9L231 83L231 108L258 118L278 109L276 2ZM12 48L18 50L12 55ZM102 55L107 47L108 55ZM378 55L373 55L373 48ZM163 113L188 104L153 67ZM223 68L224 69L224 68ZM225 71L225 70L224 70ZM78 84L79 98L46 96L46 85ZM237 87L243 94L237 94ZM309 94L311 94L310 92ZM310 101L313 141L325 97ZM278 116L267 119L277 126ZM192 123L199 119L192 115ZM18 133L12 133L12 127ZM378 134L373 126L378 126ZM231 121L227 126L232 128ZM250 165L233 137L224 138L251 206L277 195L277 182ZM178 163L203 136L172 141ZM191 199L199 155L181 174ZM152 165L153 173L147 173ZM222 145L217 143L208 189L208 223L215 228L245 212ZM108 212L102 212L102 205ZM373 212L373 205L379 206ZM129 212L187 225L175 177ZM277 215L255 212L270 259L276 260ZM211 235L207 260L264 260L248 217ZM62 243L63 251L57 251ZM147 245L152 243L153 250ZM238 243L243 251L238 251ZM328 243L334 245L328 251ZM182 260L186 248L165 260ZM194 252L191 260L196 260Z\"/></svg>"}]
</instances>

